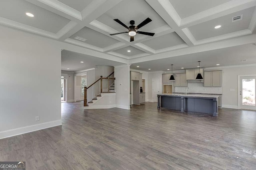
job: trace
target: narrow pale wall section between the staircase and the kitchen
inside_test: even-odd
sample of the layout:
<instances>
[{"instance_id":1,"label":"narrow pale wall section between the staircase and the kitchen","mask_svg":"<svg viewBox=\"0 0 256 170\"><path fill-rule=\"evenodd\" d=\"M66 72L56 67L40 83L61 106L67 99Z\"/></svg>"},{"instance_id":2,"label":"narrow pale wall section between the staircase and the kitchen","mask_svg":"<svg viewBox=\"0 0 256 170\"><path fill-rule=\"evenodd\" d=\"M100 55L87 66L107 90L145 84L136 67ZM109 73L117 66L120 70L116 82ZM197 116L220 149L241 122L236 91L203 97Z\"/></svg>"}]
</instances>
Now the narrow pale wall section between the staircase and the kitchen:
<instances>
[{"instance_id":1,"label":"narrow pale wall section between the staircase and the kitchen","mask_svg":"<svg viewBox=\"0 0 256 170\"><path fill-rule=\"evenodd\" d=\"M130 66L116 66L116 107L130 109ZM122 86L120 85L122 84Z\"/></svg>"}]
</instances>

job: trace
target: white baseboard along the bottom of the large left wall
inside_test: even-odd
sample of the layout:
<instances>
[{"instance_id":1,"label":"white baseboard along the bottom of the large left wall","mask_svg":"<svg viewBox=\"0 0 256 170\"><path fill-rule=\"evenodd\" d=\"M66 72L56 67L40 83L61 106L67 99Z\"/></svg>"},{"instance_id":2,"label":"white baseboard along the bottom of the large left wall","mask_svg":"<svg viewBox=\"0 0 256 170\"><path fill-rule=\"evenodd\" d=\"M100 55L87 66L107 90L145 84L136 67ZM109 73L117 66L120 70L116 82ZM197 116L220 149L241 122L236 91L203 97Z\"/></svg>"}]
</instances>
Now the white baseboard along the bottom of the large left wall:
<instances>
[{"instance_id":1,"label":"white baseboard along the bottom of the large left wall","mask_svg":"<svg viewBox=\"0 0 256 170\"><path fill-rule=\"evenodd\" d=\"M38 131L41 129L46 129L49 127L54 127L54 126L59 126L59 125L62 125L61 120L48 121L48 122L40 123L40 124L36 124L36 125L19 127L19 128L10 129L7 131L0 131L0 139L4 139L7 137L12 137L12 136L16 136L16 135L21 135L21 134L29 133L29 132L33 132L33 131Z\"/></svg>"}]
</instances>

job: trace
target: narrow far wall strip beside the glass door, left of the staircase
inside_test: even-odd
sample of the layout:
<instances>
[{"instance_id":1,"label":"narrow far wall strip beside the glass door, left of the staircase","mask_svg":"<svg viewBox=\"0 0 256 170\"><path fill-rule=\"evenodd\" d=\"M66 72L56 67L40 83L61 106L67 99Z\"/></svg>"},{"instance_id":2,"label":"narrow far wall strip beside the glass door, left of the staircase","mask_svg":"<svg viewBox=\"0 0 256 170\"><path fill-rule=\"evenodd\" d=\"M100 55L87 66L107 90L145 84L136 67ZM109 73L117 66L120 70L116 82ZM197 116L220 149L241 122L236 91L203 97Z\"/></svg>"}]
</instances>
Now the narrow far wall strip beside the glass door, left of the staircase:
<instances>
[{"instance_id":1,"label":"narrow far wall strip beside the glass door, left of the staircase","mask_svg":"<svg viewBox=\"0 0 256 170\"><path fill-rule=\"evenodd\" d=\"M74 102L74 72L61 71L61 74L67 74L67 102Z\"/></svg>"}]
</instances>

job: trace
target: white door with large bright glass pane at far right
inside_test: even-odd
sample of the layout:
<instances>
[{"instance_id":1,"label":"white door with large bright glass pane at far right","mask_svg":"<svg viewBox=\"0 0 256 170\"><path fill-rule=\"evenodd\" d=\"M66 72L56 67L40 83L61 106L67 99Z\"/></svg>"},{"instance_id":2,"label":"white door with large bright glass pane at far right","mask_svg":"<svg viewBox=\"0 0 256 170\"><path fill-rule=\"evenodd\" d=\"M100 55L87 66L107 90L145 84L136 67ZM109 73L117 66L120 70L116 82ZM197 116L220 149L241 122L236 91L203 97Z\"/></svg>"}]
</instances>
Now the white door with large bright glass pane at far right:
<instances>
[{"instance_id":1,"label":"white door with large bright glass pane at far right","mask_svg":"<svg viewBox=\"0 0 256 170\"><path fill-rule=\"evenodd\" d=\"M240 109L256 110L256 76L240 77Z\"/></svg>"}]
</instances>

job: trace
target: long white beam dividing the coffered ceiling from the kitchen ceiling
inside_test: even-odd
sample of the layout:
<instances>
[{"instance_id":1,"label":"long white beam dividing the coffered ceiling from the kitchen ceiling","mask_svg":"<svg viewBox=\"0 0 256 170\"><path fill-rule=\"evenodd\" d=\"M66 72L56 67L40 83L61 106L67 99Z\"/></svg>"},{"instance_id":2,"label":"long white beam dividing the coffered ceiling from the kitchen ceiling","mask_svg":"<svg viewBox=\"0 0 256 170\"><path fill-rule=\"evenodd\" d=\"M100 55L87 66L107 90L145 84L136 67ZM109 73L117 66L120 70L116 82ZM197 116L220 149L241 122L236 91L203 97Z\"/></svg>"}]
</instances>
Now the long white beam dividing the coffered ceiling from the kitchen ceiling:
<instances>
[{"instance_id":1,"label":"long white beam dividing the coffered ceiling from the kitchen ceiling","mask_svg":"<svg viewBox=\"0 0 256 170\"><path fill-rule=\"evenodd\" d=\"M137 59L131 59L131 60L129 60L129 63L133 64L133 63L140 63L140 62L145 62L145 61L152 61L152 60L156 60L156 59L166 59L169 57L177 57L177 56L181 56L181 55L200 53L203 51L228 48L228 47L233 47L233 46L238 46L238 45L245 45L245 44L255 43L255 40L256 40L255 34L254 35L246 35L243 37L236 37L233 39L225 39L225 40L218 41L218 42L197 45L194 47L188 47L188 48L179 49L179 50L175 50L175 51L169 51L166 53L150 55L147 57L140 57Z\"/></svg>"}]
</instances>

